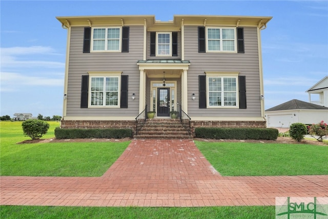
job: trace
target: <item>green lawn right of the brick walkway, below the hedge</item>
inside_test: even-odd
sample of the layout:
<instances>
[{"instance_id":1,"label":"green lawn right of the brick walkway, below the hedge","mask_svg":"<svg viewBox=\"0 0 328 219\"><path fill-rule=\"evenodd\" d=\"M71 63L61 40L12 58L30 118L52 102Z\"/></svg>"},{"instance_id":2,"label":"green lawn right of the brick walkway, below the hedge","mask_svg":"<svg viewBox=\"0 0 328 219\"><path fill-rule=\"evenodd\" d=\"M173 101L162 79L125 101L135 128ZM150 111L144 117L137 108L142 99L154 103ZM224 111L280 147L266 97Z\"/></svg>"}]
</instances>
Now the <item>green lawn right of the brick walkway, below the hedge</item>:
<instances>
[{"instance_id":1,"label":"green lawn right of the brick walkway, below the hedge","mask_svg":"<svg viewBox=\"0 0 328 219\"><path fill-rule=\"evenodd\" d=\"M328 174L326 146L199 141L195 144L225 176Z\"/></svg>"}]
</instances>

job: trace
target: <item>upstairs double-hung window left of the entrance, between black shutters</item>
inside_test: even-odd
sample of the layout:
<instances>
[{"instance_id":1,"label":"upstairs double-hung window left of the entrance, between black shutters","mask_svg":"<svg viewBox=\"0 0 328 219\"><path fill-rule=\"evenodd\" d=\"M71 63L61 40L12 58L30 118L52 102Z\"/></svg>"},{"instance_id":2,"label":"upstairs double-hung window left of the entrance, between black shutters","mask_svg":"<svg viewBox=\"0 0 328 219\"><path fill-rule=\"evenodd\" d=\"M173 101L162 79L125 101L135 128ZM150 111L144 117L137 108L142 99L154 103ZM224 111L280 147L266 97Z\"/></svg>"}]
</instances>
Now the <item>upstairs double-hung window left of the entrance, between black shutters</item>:
<instances>
[{"instance_id":1,"label":"upstairs double-hung window left of the entrance, between black shutters","mask_svg":"<svg viewBox=\"0 0 328 219\"><path fill-rule=\"evenodd\" d=\"M92 51L121 50L121 27L93 28Z\"/></svg>"}]
</instances>

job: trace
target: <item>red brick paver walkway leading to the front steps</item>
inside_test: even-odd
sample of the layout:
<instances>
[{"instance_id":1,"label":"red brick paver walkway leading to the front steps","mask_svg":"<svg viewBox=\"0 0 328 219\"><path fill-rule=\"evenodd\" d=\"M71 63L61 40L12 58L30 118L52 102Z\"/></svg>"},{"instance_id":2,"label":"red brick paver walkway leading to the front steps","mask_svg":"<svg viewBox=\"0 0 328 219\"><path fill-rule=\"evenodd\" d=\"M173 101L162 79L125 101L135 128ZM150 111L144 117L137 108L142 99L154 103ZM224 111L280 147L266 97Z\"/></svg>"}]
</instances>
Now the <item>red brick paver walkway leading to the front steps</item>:
<instances>
[{"instance_id":1,"label":"red brick paver walkway leading to the front steps","mask_svg":"<svg viewBox=\"0 0 328 219\"><path fill-rule=\"evenodd\" d=\"M0 177L0 205L275 205L328 196L328 175L221 176L190 140L133 140L101 177Z\"/></svg>"}]
</instances>

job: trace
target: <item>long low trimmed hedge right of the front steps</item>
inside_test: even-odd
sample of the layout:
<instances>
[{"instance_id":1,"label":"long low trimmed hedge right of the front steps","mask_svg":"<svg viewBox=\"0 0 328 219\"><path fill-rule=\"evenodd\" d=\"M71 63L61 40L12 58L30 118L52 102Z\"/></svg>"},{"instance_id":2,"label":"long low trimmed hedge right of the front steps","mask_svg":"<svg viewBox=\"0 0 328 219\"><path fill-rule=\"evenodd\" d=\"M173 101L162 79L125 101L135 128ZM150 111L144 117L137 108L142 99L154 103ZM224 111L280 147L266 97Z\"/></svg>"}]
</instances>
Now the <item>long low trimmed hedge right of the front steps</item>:
<instances>
[{"instance_id":1,"label":"long low trimmed hedge right of the front steps","mask_svg":"<svg viewBox=\"0 0 328 219\"><path fill-rule=\"evenodd\" d=\"M279 131L274 128L195 128L195 136L211 139L277 140Z\"/></svg>"}]
</instances>

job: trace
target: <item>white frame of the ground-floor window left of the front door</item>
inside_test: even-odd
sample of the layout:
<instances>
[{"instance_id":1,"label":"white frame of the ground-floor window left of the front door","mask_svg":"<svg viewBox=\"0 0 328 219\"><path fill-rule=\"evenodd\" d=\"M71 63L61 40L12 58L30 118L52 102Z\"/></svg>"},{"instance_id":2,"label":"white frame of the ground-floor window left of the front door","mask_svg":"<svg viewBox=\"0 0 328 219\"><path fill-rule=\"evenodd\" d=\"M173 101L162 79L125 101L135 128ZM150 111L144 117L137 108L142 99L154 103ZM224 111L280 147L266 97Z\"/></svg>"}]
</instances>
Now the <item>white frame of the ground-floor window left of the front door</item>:
<instances>
[{"instance_id":1,"label":"white frame of the ground-floor window left of the front door","mask_svg":"<svg viewBox=\"0 0 328 219\"><path fill-rule=\"evenodd\" d=\"M88 95L88 108L120 108L120 91L121 91L121 71L110 71L110 72L88 72L89 73L89 95ZM93 77L103 77L104 78L104 89L103 89L103 105L91 105L91 81ZM118 88L117 88L117 105L110 106L106 105L106 78L107 77L117 77L118 78Z\"/></svg>"}]
</instances>

